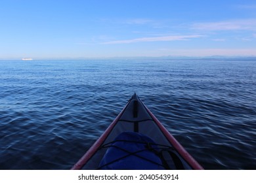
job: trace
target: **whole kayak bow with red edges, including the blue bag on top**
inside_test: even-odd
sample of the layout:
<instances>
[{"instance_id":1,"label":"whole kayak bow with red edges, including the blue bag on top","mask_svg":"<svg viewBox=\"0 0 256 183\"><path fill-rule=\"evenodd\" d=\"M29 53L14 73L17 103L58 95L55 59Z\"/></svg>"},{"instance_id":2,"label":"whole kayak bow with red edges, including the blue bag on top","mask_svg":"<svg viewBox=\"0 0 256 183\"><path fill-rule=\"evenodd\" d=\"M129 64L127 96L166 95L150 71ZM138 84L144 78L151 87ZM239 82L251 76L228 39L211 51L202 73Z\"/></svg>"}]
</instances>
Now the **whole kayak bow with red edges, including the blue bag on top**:
<instances>
[{"instance_id":1,"label":"whole kayak bow with red edges, including the blue bag on top","mask_svg":"<svg viewBox=\"0 0 256 183\"><path fill-rule=\"evenodd\" d=\"M134 138L140 140L137 142ZM135 150L138 146L140 149ZM152 160L154 156L158 156L156 159L161 159L161 163L159 160ZM149 164L152 166L150 167ZM114 122L72 169L156 169L156 167L203 169L135 93Z\"/></svg>"}]
</instances>

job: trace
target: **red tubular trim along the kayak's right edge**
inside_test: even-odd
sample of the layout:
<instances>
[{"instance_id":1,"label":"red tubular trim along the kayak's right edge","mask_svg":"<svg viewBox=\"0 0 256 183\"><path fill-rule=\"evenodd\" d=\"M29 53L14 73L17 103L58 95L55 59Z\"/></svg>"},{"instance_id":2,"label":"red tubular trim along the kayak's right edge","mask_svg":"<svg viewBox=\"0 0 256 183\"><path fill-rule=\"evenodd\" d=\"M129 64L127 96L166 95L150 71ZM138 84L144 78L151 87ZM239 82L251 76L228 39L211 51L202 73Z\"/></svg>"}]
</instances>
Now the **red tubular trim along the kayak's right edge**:
<instances>
[{"instance_id":1,"label":"red tubular trim along the kayak's right edge","mask_svg":"<svg viewBox=\"0 0 256 183\"><path fill-rule=\"evenodd\" d=\"M144 103L143 103L144 105ZM167 129L161 124L161 122L154 116L154 114L144 105L150 116L153 118L153 120L156 122L158 127L160 127L161 131L165 135L165 137L173 144L173 147L181 154L181 156L188 162L188 164L196 170L203 170L203 167L190 155L188 152L182 147L182 145L167 131Z\"/></svg>"}]
</instances>

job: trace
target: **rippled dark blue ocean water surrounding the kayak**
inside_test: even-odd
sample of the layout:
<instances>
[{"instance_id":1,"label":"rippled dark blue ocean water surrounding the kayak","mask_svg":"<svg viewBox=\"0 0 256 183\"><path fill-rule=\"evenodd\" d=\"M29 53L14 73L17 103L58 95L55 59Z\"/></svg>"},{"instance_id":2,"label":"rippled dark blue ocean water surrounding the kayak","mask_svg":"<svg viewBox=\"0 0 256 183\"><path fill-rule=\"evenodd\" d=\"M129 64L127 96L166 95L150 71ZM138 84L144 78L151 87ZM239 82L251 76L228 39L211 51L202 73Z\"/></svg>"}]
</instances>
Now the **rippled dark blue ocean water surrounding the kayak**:
<instances>
[{"instance_id":1,"label":"rippled dark blue ocean water surrounding the kayak","mask_svg":"<svg viewBox=\"0 0 256 183\"><path fill-rule=\"evenodd\" d=\"M256 169L256 60L0 61L0 169L70 169L136 92L205 169Z\"/></svg>"}]
</instances>

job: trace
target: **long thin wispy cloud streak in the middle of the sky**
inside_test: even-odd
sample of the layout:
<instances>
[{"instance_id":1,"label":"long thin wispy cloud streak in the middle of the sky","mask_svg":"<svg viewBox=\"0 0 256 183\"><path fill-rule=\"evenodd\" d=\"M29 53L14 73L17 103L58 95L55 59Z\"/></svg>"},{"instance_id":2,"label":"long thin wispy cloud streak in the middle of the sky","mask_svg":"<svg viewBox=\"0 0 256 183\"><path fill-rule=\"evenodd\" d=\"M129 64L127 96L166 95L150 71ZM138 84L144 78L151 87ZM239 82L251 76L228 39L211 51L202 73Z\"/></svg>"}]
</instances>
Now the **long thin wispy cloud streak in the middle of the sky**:
<instances>
[{"instance_id":1,"label":"long thin wispy cloud streak in the middle of the sky","mask_svg":"<svg viewBox=\"0 0 256 183\"><path fill-rule=\"evenodd\" d=\"M127 39L119 41L102 42L102 44L127 44L133 42L156 42L156 41L188 41L192 38L203 37L203 35L172 35L163 37L142 37L137 39Z\"/></svg>"}]
</instances>

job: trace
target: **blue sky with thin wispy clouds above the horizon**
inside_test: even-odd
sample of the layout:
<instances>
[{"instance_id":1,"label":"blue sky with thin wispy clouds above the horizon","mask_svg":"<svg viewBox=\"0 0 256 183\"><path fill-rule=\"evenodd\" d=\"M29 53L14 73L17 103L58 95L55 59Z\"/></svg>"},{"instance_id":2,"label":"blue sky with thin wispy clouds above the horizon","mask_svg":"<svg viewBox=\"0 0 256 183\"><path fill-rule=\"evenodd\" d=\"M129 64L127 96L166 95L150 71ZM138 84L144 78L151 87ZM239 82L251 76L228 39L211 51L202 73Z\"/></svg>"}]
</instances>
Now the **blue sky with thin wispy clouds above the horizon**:
<instances>
[{"instance_id":1,"label":"blue sky with thin wispy clouds above the horizon","mask_svg":"<svg viewBox=\"0 0 256 183\"><path fill-rule=\"evenodd\" d=\"M0 0L0 59L256 56L255 0Z\"/></svg>"}]
</instances>

